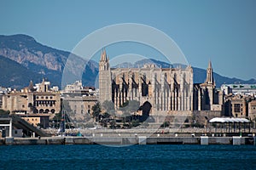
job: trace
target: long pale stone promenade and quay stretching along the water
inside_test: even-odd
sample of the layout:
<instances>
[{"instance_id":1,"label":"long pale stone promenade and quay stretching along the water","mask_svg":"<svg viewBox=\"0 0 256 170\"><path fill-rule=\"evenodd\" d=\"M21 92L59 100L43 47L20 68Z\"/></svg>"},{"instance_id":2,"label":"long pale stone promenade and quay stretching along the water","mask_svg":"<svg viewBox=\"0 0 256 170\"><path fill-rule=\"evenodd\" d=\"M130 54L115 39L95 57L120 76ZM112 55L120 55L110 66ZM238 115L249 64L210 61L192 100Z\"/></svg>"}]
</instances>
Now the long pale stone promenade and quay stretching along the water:
<instances>
[{"instance_id":1,"label":"long pale stone promenade and quay stretching along the water","mask_svg":"<svg viewBox=\"0 0 256 170\"><path fill-rule=\"evenodd\" d=\"M221 128L44 129L51 137L2 138L0 145L20 144L256 144L255 129L228 133ZM76 136L76 135L80 136ZM71 136L73 135L73 136Z\"/></svg>"}]
</instances>

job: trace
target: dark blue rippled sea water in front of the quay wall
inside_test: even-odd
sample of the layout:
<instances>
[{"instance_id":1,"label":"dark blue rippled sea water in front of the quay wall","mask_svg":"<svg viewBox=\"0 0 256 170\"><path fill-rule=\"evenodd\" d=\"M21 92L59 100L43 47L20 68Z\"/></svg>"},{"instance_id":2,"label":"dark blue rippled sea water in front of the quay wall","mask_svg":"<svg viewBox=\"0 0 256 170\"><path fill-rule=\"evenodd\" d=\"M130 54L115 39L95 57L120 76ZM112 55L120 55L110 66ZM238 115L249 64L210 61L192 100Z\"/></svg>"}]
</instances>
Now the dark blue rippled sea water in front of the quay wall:
<instances>
[{"instance_id":1,"label":"dark blue rippled sea water in front of the quay wall","mask_svg":"<svg viewBox=\"0 0 256 170\"><path fill-rule=\"evenodd\" d=\"M0 169L256 169L256 146L2 145Z\"/></svg>"}]
</instances>

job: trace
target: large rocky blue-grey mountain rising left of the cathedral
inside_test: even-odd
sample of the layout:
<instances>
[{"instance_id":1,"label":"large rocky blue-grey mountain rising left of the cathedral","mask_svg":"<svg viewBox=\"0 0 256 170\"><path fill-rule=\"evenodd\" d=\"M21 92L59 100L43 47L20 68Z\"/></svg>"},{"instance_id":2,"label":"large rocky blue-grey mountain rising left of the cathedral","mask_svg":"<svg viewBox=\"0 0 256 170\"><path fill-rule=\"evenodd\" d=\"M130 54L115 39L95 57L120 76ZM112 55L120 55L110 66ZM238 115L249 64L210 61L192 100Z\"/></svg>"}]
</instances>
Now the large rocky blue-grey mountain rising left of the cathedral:
<instances>
[{"instance_id":1,"label":"large rocky blue-grey mountain rising left of the cathedral","mask_svg":"<svg viewBox=\"0 0 256 170\"><path fill-rule=\"evenodd\" d=\"M41 82L43 77L59 87L61 87L61 80L66 84L79 79L82 79L84 85L94 86L95 77L98 74L98 64L95 61L87 61L75 54L44 46L33 37L22 34L0 36L0 55L2 59L0 77L5 77L0 79L0 85L6 87L23 88L27 79ZM6 62L9 63L8 68L5 68ZM67 77L62 79L64 68ZM21 82L14 81L14 77L7 77L8 71L14 72L16 79L20 78ZM82 76L79 72L82 72Z\"/></svg>"}]
</instances>

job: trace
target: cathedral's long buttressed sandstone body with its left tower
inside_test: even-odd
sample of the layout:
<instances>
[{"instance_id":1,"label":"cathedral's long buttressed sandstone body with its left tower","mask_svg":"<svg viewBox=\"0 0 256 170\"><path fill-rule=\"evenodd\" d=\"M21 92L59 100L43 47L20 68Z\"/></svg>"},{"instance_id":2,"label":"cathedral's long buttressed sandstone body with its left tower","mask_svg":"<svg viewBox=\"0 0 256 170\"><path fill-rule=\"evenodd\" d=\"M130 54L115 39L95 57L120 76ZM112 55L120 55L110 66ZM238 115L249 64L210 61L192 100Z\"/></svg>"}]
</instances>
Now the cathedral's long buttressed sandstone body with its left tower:
<instances>
[{"instance_id":1,"label":"cathedral's long buttressed sandstone body with its left tower","mask_svg":"<svg viewBox=\"0 0 256 170\"><path fill-rule=\"evenodd\" d=\"M149 105L150 114L193 111L193 70L183 68L110 68L105 49L99 62L100 102L118 109L130 100Z\"/></svg>"}]
</instances>

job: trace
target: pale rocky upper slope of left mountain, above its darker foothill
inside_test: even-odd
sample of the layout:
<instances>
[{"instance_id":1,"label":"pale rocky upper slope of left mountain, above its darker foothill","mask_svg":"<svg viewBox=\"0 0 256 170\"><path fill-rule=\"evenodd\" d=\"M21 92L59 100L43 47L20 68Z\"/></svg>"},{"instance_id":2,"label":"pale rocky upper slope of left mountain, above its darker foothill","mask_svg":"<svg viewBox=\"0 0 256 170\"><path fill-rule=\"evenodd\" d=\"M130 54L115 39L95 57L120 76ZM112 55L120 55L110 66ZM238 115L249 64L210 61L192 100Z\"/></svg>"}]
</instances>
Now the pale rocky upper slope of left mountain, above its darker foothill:
<instances>
[{"instance_id":1,"label":"pale rocky upper slope of left mountain, above its darker foothill","mask_svg":"<svg viewBox=\"0 0 256 170\"><path fill-rule=\"evenodd\" d=\"M95 61L87 62L87 60L69 52L44 46L33 37L26 35L0 36L0 55L16 61L31 72L37 73L33 74L32 80L46 77L52 84L59 87L61 87L62 71L65 66L68 77L65 78L67 82L64 84L82 78L84 85L91 86L95 84L94 80L98 73L98 64ZM71 59L68 64L66 63L67 59ZM84 66L86 63L87 65ZM82 72L83 77L80 76L79 72ZM11 86L21 85L20 82L9 84Z\"/></svg>"}]
</instances>

